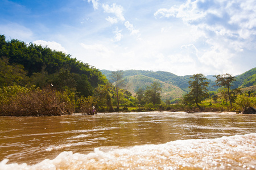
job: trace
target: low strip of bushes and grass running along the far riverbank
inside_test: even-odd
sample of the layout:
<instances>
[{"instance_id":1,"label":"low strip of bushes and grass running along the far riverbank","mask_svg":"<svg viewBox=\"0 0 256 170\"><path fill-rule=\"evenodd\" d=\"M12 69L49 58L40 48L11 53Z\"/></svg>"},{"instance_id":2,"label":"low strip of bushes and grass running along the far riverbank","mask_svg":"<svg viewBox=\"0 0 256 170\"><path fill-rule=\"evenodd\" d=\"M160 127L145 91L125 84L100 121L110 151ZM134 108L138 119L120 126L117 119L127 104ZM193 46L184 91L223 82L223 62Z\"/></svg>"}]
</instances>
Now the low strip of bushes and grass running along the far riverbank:
<instances>
[{"instance_id":1,"label":"low strip of bushes and grass running along the far riverbank","mask_svg":"<svg viewBox=\"0 0 256 170\"><path fill-rule=\"evenodd\" d=\"M11 86L1 88L0 116L61 116L68 114L92 115L96 105L98 113L116 112L185 112L185 113L223 113L236 112L228 104L201 103L200 106L185 104L148 104L143 106L113 107L111 111L107 107L98 107L97 100L92 96L80 97L75 100L75 93L65 90L59 92L53 87L30 88Z\"/></svg>"}]
</instances>

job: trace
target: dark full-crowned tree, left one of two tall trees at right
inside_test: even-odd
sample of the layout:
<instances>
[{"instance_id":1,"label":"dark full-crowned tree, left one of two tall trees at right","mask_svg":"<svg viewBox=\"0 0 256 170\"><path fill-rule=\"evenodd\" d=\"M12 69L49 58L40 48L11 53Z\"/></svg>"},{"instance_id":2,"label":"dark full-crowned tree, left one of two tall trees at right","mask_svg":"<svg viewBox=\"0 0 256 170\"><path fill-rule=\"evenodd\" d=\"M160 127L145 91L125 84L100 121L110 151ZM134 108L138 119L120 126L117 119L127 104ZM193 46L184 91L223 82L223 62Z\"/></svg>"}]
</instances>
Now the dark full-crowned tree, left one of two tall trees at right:
<instances>
[{"instance_id":1,"label":"dark full-crowned tree, left one of two tall trees at right","mask_svg":"<svg viewBox=\"0 0 256 170\"><path fill-rule=\"evenodd\" d=\"M207 90L209 82L206 81L208 79L203 74L194 74L190 79L194 80L189 80L190 92L185 95L184 99L189 103L196 103L196 106L199 107L199 103L209 96Z\"/></svg>"}]
</instances>

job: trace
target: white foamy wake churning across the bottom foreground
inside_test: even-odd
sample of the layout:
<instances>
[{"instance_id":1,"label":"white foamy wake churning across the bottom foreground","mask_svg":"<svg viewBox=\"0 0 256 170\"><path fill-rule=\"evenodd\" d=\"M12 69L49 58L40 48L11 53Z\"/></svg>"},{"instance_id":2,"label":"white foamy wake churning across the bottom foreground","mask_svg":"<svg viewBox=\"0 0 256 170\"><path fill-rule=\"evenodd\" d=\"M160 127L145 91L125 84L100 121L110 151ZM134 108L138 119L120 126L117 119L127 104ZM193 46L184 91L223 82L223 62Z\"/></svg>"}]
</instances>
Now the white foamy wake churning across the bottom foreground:
<instances>
[{"instance_id":1,"label":"white foamy wake churning across the bottom foreground","mask_svg":"<svg viewBox=\"0 0 256 170\"><path fill-rule=\"evenodd\" d=\"M61 152L34 165L0 169L256 169L256 133L216 139L187 139L129 148L95 148L89 154Z\"/></svg>"}]
</instances>

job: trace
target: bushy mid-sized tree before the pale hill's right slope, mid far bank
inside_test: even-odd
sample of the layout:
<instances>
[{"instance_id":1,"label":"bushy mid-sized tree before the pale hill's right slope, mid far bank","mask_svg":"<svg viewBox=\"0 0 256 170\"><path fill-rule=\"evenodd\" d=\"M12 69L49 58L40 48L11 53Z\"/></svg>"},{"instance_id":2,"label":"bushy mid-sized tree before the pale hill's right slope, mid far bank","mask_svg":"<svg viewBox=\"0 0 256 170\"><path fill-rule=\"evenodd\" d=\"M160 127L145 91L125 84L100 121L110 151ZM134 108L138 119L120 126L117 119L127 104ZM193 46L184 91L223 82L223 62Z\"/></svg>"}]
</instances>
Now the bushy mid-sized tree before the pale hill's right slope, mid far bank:
<instances>
[{"instance_id":1,"label":"bushy mid-sized tree before the pale hill's right slope, mid far bank","mask_svg":"<svg viewBox=\"0 0 256 170\"><path fill-rule=\"evenodd\" d=\"M152 104L160 104L161 103L160 91L162 91L160 83L153 82L151 86L148 86L146 88L145 97Z\"/></svg>"}]
</instances>

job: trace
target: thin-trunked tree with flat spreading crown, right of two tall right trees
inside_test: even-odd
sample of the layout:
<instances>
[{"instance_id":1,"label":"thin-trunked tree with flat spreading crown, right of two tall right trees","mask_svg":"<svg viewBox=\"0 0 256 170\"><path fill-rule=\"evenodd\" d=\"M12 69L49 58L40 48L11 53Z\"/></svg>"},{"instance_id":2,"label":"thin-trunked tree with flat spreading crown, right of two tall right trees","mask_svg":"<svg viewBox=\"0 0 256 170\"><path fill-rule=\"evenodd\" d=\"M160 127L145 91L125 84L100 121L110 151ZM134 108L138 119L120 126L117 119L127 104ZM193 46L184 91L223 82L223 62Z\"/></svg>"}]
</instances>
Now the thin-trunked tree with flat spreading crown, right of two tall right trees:
<instances>
[{"instance_id":1,"label":"thin-trunked tree with flat spreading crown, right of two tall right trees","mask_svg":"<svg viewBox=\"0 0 256 170\"><path fill-rule=\"evenodd\" d=\"M236 78L228 73L214 75L214 77L216 77L216 80L215 80L216 85L214 85L214 86L228 88L229 103L230 103L230 107L232 107L232 99L230 96L230 87L233 86L232 82L236 81Z\"/></svg>"}]
</instances>

